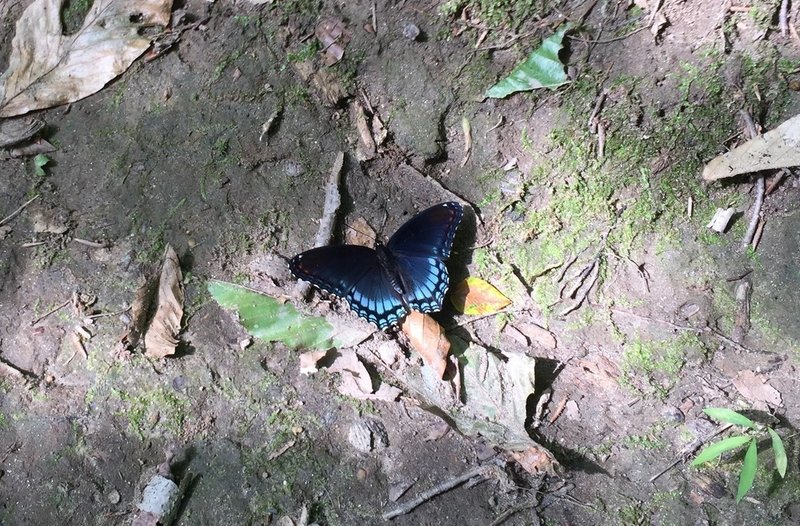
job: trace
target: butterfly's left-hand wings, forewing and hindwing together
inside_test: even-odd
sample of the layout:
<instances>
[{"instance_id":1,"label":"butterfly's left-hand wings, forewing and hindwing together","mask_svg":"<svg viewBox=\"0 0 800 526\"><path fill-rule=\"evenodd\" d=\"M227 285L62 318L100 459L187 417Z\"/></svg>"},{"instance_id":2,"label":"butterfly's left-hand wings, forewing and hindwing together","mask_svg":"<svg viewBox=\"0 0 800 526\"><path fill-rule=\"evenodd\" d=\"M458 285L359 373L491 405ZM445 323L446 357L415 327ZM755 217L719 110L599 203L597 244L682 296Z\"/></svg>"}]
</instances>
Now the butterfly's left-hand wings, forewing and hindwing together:
<instances>
[{"instance_id":1,"label":"butterfly's left-hand wings, forewing and hindwing together","mask_svg":"<svg viewBox=\"0 0 800 526\"><path fill-rule=\"evenodd\" d=\"M396 324L408 314L371 248L313 248L293 257L289 269L295 277L346 300L356 314L380 329Z\"/></svg>"}]
</instances>

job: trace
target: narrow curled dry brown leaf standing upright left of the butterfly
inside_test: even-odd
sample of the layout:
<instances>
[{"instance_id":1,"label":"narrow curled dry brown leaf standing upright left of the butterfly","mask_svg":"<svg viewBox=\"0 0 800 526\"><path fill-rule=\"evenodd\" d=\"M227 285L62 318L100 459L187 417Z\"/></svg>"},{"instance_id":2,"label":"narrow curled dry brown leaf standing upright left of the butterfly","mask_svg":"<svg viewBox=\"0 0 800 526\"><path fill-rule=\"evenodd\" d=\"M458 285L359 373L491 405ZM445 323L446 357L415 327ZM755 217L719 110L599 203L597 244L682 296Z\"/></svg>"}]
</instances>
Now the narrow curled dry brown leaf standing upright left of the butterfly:
<instances>
[{"instance_id":1,"label":"narrow curled dry brown leaf standing upright left of the butterfly","mask_svg":"<svg viewBox=\"0 0 800 526\"><path fill-rule=\"evenodd\" d=\"M167 245L158 280L156 312L144 335L144 353L149 358L159 359L175 354L183 318L182 281L178 255L172 246Z\"/></svg>"}]
</instances>

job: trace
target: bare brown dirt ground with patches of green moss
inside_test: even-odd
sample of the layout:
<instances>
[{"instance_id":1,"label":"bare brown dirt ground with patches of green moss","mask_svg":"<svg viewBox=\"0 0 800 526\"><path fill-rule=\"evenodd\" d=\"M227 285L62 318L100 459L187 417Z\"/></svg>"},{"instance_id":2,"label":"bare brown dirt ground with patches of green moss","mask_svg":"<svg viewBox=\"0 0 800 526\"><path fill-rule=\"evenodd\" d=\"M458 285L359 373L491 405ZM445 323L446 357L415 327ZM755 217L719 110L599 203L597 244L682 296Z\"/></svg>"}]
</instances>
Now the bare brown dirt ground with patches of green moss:
<instances>
[{"instance_id":1,"label":"bare brown dirt ground with patches of green moss","mask_svg":"<svg viewBox=\"0 0 800 526\"><path fill-rule=\"evenodd\" d=\"M0 71L28 4L0 7ZM480 464L505 476L392 522L800 524L800 181L789 171L767 195L758 246L743 251L755 178L700 178L745 139L741 110L767 130L800 109L800 40L778 29L779 4L176 3L186 29L173 47L36 113L55 146L45 175L0 150L0 216L39 196L0 230L0 524L130 523L173 453L178 525L299 524L304 508L307 524L382 524ZM349 34L332 66L314 38L325 19ZM567 20L568 84L483 99ZM388 132L371 156L359 112ZM453 281L480 276L513 304L439 319L537 358L529 430L557 472L442 435L411 397L343 396L213 301L210 279L292 294L272 269L311 248L339 151L337 239L360 217L385 237L435 203L474 210ZM733 224L710 232L729 206ZM167 244L184 272L184 330L176 356L151 362L119 339ZM324 312L320 298L306 310ZM786 478L768 440L739 503L741 454L690 467L682 452L718 427L705 407L774 427ZM351 430L365 422L386 443L357 449Z\"/></svg>"}]
</instances>

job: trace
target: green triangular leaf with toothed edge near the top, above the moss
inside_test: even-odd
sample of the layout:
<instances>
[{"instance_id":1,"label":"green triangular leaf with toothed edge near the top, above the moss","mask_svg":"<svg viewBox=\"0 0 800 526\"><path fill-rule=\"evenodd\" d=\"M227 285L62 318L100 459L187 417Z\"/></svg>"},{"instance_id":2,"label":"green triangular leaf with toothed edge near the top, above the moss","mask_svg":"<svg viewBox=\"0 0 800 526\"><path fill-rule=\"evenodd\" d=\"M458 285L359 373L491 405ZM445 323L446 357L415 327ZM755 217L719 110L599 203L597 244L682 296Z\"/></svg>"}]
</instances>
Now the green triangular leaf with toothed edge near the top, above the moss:
<instances>
[{"instance_id":1,"label":"green triangular leaf with toothed edge near the top, above the moss","mask_svg":"<svg viewBox=\"0 0 800 526\"><path fill-rule=\"evenodd\" d=\"M571 29L570 24L561 26L553 36L546 38L542 45L519 64L503 80L486 91L486 97L502 99L518 91L536 88L555 88L567 83L564 65L558 59L564 34Z\"/></svg>"}]
</instances>

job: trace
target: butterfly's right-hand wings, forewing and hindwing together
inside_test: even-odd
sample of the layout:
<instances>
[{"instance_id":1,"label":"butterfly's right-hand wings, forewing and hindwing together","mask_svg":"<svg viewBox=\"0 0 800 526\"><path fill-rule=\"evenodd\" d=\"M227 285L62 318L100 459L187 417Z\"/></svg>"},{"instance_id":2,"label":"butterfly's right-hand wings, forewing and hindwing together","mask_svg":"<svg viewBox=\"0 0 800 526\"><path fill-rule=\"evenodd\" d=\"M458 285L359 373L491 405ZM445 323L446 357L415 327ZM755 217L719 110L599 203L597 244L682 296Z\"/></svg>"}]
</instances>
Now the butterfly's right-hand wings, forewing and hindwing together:
<instances>
[{"instance_id":1,"label":"butterfly's right-hand wings, forewing and hindwing together","mask_svg":"<svg viewBox=\"0 0 800 526\"><path fill-rule=\"evenodd\" d=\"M450 283L444 260L450 255L463 215L464 209L456 202L432 206L401 226L386 244L411 308L420 312L442 309Z\"/></svg>"}]
</instances>

